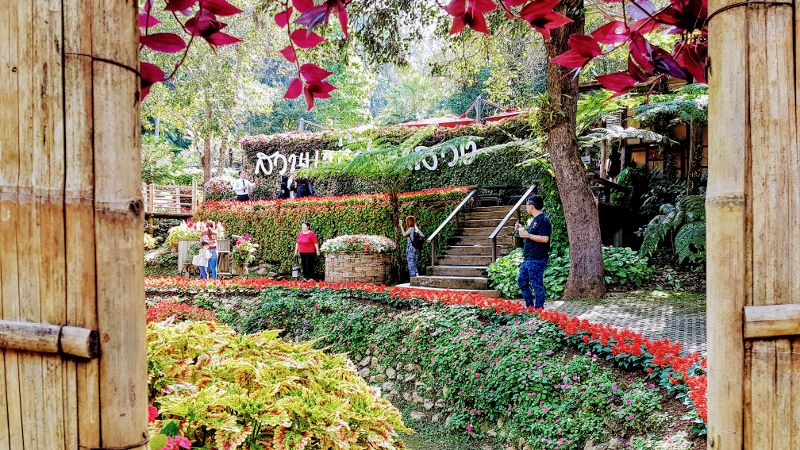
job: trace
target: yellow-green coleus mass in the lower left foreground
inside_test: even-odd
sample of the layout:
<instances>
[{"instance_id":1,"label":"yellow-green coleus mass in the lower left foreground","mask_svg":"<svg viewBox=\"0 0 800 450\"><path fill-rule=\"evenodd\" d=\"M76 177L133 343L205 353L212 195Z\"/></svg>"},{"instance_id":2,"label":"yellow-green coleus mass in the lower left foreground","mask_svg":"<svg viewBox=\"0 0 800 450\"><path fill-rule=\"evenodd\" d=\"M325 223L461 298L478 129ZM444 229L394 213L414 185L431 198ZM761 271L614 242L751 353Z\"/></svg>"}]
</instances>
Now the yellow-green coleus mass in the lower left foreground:
<instances>
[{"instance_id":1,"label":"yellow-green coleus mass in the lower left foreground","mask_svg":"<svg viewBox=\"0 0 800 450\"><path fill-rule=\"evenodd\" d=\"M151 323L147 341L154 426L193 448L405 448L400 413L343 355L214 322Z\"/></svg>"}]
</instances>

